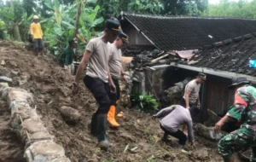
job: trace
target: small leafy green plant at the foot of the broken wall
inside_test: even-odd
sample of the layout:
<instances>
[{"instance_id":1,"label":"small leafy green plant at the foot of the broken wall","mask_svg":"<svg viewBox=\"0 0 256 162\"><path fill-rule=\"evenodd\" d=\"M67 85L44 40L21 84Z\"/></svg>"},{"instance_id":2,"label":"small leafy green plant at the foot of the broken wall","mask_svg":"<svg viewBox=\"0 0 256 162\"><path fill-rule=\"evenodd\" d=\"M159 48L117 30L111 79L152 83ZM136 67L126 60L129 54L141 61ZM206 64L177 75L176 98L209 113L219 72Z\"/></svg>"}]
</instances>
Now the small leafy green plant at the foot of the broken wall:
<instances>
[{"instance_id":1,"label":"small leafy green plant at the foot of the broken wall","mask_svg":"<svg viewBox=\"0 0 256 162\"><path fill-rule=\"evenodd\" d=\"M158 110L159 107L158 102L153 98L153 95L134 95L131 98L131 101L137 109L147 113Z\"/></svg>"}]
</instances>

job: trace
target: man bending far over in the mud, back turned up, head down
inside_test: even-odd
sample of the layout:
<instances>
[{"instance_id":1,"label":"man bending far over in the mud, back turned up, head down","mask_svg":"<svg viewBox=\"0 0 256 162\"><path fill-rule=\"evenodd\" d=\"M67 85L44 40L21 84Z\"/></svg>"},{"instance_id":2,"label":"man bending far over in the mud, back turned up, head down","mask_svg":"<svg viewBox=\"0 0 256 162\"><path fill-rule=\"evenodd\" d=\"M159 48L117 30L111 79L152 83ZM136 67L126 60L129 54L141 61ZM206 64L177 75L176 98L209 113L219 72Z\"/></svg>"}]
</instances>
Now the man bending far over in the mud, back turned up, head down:
<instances>
[{"instance_id":1,"label":"man bending far over in the mud, back turned up, head down","mask_svg":"<svg viewBox=\"0 0 256 162\"><path fill-rule=\"evenodd\" d=\"M179 126L186 124L189 130L189 142L195 148L193 135L193 121L188 108L180 105L173 105L160 110L152 116L152 119L160 119L160 128L165 131L163 141L168 141L168 135L176 137L179 141L177 148L184 148L187 136L179 130Z\"/></svg>"}]
</instances>

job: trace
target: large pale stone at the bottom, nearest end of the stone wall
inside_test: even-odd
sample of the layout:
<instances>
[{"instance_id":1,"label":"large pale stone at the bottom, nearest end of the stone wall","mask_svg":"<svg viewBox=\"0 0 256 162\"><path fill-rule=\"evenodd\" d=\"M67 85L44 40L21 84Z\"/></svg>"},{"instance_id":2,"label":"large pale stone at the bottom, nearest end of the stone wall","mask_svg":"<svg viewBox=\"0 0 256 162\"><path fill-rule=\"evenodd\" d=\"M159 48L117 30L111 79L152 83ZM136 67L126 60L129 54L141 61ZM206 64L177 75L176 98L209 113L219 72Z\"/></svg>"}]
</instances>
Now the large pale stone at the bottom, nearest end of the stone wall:
<instances>
[{"instance_id":1,"label":"large pale stone at the bottom, nearest end of the stone wall","mask_svg":"<svg viewBox=\"0 0 256 162\"><path fill-rule=\"evenodd\" d=\"M26 148L25 157L28 162L58 161L57 159L65 158L65 151L51 140L40 141Z\"/></svg>"}]
</instances>

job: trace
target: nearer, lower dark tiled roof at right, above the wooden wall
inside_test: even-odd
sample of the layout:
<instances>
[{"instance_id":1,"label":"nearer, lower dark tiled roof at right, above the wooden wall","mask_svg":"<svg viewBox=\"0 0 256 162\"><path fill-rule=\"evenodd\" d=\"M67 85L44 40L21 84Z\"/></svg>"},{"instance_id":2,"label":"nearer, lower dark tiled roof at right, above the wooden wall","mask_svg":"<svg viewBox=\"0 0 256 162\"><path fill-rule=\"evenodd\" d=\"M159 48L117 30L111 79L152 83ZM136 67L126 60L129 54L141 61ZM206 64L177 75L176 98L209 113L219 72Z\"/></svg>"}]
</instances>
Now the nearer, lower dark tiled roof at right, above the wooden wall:
<instances>
[{"instance_id":1,"label":"nearer, lower dark tiled roof at right, above the wooden wall","mask_svg":"<svg viewBox=\"0 0 256 162\"><path fill-rule=\"evenodd\" d=\"M249 67L249 59L256 56L256 34L225 40L206 46L195 55L193 67L236 72L256 77L256 69Z\"/></svg>"}]
</instances>

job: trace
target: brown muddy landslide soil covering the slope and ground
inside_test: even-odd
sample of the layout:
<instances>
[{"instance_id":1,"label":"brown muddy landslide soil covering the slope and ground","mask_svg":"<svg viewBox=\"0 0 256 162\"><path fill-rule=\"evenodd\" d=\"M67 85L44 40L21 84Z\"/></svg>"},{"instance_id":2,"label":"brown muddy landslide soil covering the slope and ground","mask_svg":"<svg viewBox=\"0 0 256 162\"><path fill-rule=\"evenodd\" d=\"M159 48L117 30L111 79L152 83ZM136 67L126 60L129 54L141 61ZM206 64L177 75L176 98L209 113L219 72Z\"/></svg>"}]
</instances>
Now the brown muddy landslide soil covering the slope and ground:
<instances>
[{"instance_id":1,"label":"brown muddy landslide soil covering the slope and ground","mask_svg":"<svg viewBox=\"0 0 256 162\"><path fill-rule=\"evenodd\" d=\"M222 161L216 142L208 142L200 136L195 136L197 149L192 153L189 144L186 147L187 153L174 149L171 147L172 143L160 141L163 132L157 120L151 119L148 114L124 107L121 108L125 114L124 118L118 119L122 126L119 130L108 131L109 141L113 142L114 148L103 151L96 147L96 138L90 136L88 130L90 116L96 111L96 101L82 82L79 94L72 95L70 88L73 76L65 73L52 56L35 56L10 42L0 42L0 54L0 73L13 78L13 86L20 86L32 92L45 126L55 136L55 142L65 148L67 157L73 162ZM58 111L62 106L79 110L81 121L78 124L67 124ZM1 120L3 112L0 110L0 113ZM8 115L4 118L6 122ZM1 122L1 128L4 121ZM1 135L2 133L1 130ZM16 142L13 133L8 129L5 133L10 136L6 141L9 142L9 147L19 148L19 142ZM8 159L10 155L2 153L1 142L0 136L0 159ZM131 148L137 149L132 151ZM22 151L18 149L13 158L21 160L20 153L22 154Z\"/></svg>"}]
</instances>

